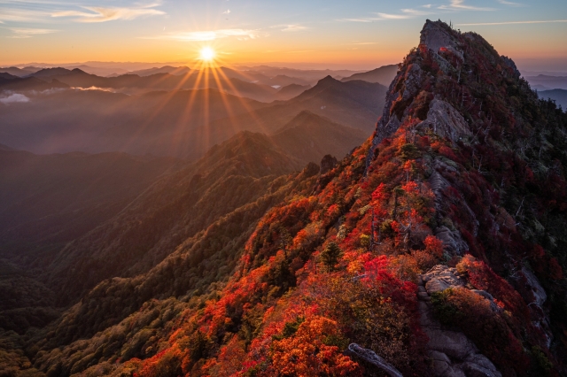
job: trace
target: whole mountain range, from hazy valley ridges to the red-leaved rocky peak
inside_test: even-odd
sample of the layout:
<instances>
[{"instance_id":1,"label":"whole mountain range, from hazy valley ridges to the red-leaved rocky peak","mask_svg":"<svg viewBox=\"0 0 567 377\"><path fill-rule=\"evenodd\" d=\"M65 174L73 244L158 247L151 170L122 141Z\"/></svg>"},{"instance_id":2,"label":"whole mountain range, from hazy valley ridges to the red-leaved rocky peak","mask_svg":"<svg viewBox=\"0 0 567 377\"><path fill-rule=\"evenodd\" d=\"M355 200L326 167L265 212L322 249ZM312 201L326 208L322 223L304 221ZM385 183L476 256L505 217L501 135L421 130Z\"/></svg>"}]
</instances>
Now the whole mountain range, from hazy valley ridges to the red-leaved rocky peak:
<instances>
[{"instance_id":1,"label":"whole mountain range, from hazy valley ridges to the red-leaved rocky peak","mask_svg":"<svg viewBox=\"0 0 567 377\"><path fill-rule=\"evenodd\" d=\"M126 143L38 156L0 139L5 373L567 373L567 114L482 36L427 20L388 88L328 76L271 104L29 96L0 107L0 135L86 148L73 122L45 136L27 115L65 104L93 119L84 140ZM59 107L25 107L43 100ZM189 161L186 129L216 145ZM162 136L167 157L115 151Z\"/></svg>"}]
</instances>

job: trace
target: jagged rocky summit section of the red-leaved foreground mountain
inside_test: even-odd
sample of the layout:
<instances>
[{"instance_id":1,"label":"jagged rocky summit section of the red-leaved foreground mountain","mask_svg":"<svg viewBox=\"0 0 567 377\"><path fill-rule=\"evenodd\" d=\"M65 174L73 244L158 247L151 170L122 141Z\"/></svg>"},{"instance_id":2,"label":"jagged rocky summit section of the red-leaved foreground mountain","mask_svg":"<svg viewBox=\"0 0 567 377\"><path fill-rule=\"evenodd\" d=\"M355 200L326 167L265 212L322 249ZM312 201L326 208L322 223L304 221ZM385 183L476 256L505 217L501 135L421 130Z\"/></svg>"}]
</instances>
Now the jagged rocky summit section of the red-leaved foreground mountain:
<instances>
[{"instance_id":1,"label":"jagged rocky summit section of the red-leaved foreground mountain","mask_svg":"<svg viewBox=\"0 0 567 377\"><path fill-rule=\"evenodd\" d=\"M390 85L373 147L400 125L416 120L421 121L417 127L440 130L453 142L471 136L470 118L490 123L486 110L491 104L483 102L488 96L502 96L503 86L533 96L514 62L498 55L480 35L428 19L418 47L409 52ZM506 95L500 99L508 101Z\"/></svg>"}]
</instances>

